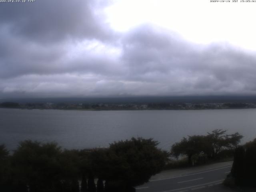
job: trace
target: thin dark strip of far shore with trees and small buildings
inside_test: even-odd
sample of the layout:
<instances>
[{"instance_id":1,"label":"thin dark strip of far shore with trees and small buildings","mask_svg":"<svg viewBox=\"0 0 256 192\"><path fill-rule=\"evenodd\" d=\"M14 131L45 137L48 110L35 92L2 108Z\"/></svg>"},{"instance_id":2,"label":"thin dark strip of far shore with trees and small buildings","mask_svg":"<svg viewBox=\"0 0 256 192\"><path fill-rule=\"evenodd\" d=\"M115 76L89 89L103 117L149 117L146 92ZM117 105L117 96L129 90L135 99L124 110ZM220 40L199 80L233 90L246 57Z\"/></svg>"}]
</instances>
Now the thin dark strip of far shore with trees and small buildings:
<instances>
[{"instance_id":1,"label":"thin dark strip of far shore with trees and small buildings","mask_svg":"<svg viewBox=\"0 0 256 192\"><path fill-rule=\"evenodd\" d=\"M204 110L256 108L255 103L182 103L182 102L131 102L131 103L16 103L2 102L0 108L60 109L60 110Z\"/></svg>"}]
</instances>

